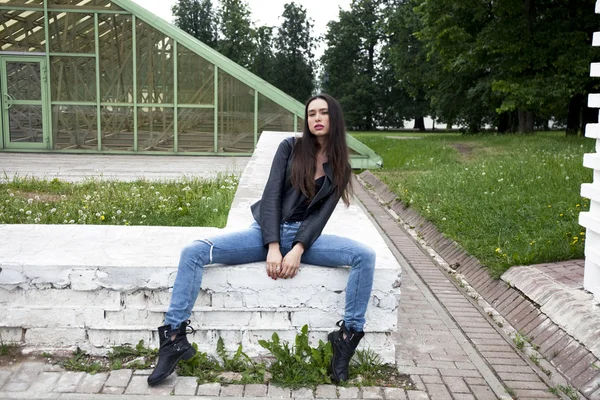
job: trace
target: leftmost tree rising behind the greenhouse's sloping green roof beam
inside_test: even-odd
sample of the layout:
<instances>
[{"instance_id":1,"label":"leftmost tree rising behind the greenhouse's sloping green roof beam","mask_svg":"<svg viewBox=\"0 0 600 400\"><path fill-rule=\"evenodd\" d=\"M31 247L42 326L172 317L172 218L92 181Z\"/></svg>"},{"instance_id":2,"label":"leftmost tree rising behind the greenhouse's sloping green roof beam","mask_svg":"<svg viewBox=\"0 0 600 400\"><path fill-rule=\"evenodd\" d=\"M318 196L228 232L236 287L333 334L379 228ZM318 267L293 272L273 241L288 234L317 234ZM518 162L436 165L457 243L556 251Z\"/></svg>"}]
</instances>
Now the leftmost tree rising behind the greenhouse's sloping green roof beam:
<instances>
[{"instance_id":1,"label":"leftmost tree rising behind the greenhouse's sloping green roof beam","mask_svg":"<svg viewBox=\"0 0 600 400\"><path fill-rule=\"evenodd\" d=\"M216 16L211 0L178 0L172 8L175 26L204 44L217 46Z\"/></svg>"}]
</instances>

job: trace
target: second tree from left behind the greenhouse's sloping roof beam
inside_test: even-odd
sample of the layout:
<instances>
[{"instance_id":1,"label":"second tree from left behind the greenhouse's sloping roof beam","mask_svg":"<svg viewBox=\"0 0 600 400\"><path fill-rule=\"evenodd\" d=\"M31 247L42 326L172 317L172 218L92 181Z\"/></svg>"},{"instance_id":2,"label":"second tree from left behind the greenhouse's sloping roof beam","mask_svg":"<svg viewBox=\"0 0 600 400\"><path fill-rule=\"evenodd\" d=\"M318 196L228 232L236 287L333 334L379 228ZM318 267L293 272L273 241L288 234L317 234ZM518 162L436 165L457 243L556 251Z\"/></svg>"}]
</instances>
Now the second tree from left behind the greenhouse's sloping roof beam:
<instances>
[{"instance_id":1,"label":"second tree from left behind the greenhouse's sloping roof beam","mask_svg":"<svg viewBox=\"0 0 600 400\"><path fill-rule=\"evenodd\" d=\"M250 10L243 0L221 0L218 11L217 50L232 61L248 68L254 53Z\"/></svg>"}]
</instances>

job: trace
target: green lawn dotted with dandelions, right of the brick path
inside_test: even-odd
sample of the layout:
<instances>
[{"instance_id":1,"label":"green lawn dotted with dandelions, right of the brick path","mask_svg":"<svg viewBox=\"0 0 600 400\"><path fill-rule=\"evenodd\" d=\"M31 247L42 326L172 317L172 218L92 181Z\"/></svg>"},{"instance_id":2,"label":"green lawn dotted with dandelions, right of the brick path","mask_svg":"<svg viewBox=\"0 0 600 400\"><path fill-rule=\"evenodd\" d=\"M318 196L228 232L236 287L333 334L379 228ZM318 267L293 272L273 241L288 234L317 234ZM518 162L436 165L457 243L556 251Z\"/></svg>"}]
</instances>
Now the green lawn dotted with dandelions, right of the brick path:
<instances>
[{"instance_id":1,"label":"green lawn dotted with dandelions, right of the brick path","mask_svg":"<svg viewBox=\"0 0 600 400\"><path fill-rule=\"evenodd\" d=\"M398 197L488 266L583 258L592 182L583 154L594 140L535 135L368 133L352 135L383 157L372 171ZM398 137L398 138L390 138Z\"/></svg>"}]
</instances>

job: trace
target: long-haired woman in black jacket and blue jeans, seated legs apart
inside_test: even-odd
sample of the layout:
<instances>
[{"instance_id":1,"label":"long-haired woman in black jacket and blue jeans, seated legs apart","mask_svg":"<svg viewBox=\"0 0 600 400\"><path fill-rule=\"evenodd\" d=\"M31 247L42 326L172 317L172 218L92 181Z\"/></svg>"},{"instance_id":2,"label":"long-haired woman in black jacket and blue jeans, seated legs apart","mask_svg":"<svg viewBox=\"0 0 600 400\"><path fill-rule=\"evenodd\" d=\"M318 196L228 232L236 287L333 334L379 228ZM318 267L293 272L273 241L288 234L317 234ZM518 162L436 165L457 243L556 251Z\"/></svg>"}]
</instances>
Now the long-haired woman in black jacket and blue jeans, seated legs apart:
<instances>
[{"instance_id":1,"label":"long-haired woman in black jacket and blue jeans, seated legs apart","mask_svg":"<svg viewBox=\"0 0 600 400\"><path fill-rule=\"evenodd\" d=\"M255 222L250 228L198 240L183 249L165 325L158 328L159 361L148 377L150 385L195 353L186 328L204 266L263 260L271 279L293 278L300 262L351 266L344 319L337 324L340 329L328 335L332 378L348 379L350 358L364 336L375 253L354 240L321 232L340 198L349 205L351 175L340 105L326 94L312 97L306 103L302 137L287 138L277 149L262 199L251 207Z\"/></svg>"}]
</instances>

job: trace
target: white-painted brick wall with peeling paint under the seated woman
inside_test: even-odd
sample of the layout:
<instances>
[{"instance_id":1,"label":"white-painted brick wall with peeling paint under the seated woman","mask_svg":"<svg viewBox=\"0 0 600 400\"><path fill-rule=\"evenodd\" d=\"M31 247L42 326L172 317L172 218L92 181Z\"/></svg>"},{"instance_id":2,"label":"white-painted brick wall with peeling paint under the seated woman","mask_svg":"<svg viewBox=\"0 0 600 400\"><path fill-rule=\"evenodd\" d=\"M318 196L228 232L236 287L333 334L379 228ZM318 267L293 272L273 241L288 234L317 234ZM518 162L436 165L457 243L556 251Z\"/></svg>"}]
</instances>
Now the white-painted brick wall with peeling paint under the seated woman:
<instances>
[{"instance_id":1,"label":"white-painted brick wall with peeling paint under the seated woman","mask_svg":"<svg viewBox=\"0 0 600 400\"><path fill-rule=\"evenodd\" d=\"M80 225L0 226L0 334L38 349L74 348L105 353L111 346L157 346L181 249L189 242L252 222L272 157L289 133L264 133L248 162L224 230L216 228ZM375 281L361 343L394 362L400 267L383 238L352 204L338 205L325 233L365 242L377 253ZM26 238L26 239L25 239ZM222 337L250 355L264 353L259 339L277 331L293 341L304 324L313 344L343 316L348 267L302 265L290 280L273 281L265 264L212 265L205 269L191 337L214 354Z\"/></svg>"}]
</instances>

